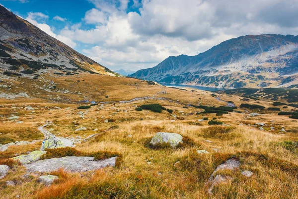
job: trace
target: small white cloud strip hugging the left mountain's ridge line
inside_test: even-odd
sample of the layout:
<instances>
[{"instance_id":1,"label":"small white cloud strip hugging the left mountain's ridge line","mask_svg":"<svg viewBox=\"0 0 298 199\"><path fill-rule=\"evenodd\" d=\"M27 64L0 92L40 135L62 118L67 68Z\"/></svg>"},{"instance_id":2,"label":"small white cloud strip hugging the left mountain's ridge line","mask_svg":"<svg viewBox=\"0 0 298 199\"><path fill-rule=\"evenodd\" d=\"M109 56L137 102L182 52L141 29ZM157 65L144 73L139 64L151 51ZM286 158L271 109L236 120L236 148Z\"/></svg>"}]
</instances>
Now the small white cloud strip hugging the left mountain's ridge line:
<instances>
[{"instance_id":1,"label":"small white cloud strip hugging the left mountain's ridge line","mask_svg":"<svg viewBox=\"0 0 298 199\"><path fill-rule=\"evenodd\" d=\"M69 45L70 47L74 48L76 46L76 43L72 41L70 38L64 36L64 35L57 35L53 32L52 28L46 24L45 22L39 23L37 21L44 21L48 19L49 16L46 14L43 14L41 12L29 12L27 18L25 18L27 21L41 29L42 31L46 32L48 35L54 37L55 39L60 40L61 42Z\"/></svg>"}]
</instances>

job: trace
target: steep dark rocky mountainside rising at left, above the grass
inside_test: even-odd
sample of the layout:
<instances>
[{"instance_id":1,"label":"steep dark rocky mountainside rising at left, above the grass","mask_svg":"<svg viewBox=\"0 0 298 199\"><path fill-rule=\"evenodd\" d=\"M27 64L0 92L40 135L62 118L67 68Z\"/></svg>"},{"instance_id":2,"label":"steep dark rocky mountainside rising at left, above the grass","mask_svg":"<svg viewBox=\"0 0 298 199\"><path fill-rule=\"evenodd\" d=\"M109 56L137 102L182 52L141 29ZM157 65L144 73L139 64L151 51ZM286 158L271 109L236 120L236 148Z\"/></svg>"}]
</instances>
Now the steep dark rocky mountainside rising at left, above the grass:
<instances>
[{"instance_id":1,"label":"steep dark rocky mountainside rising at left, above the grass","mask_svg":"<svg viewBox=\"0 0 298 199\"><path fill-rule=\"evenodd\" d=\"M0 75L37 79L41 73L114 72L49 36L0 5Z\"/></svg>"}]
</instances>

